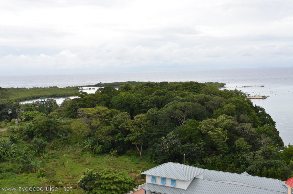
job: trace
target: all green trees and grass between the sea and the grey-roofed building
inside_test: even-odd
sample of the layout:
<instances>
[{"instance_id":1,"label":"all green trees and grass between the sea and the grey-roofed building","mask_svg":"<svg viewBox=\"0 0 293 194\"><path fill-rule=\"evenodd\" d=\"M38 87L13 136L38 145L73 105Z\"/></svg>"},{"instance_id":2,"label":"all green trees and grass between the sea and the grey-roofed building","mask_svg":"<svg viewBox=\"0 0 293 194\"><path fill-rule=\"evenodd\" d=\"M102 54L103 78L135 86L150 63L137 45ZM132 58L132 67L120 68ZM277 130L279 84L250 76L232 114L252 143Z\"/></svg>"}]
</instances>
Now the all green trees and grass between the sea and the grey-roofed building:
<instances>
[{"instance_id":1,"label":"all green trees and grass between the sea and the grey-roofed building","mask_svg":"<svg viewBox=\"0 0 293 194\"><path fill-rule=\"evenodd\" d=\"M52 100L45 115L33 103L16 113L17 102L0 101L15 107L12 114L0 109L0 128L7 129L0 132L1 187L20 182L107 193L110 183L119 193L119 185L136 186L126 173L141 181L142 171L183 163L183 154L187 165L200 168L293 176L293 146L284 146L270 115L241 91L147 82L75 95L60 107Z\"/></svg>"}]
</instances>

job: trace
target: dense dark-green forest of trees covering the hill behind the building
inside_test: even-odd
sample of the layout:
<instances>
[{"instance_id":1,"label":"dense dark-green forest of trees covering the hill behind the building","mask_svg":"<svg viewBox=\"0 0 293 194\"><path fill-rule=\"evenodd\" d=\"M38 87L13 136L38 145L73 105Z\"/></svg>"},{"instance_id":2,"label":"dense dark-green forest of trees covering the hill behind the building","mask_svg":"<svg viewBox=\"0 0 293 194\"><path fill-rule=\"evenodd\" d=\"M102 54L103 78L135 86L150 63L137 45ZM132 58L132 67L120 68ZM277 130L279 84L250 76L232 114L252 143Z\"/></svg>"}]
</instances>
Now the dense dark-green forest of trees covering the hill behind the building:
<instances>
[{"instance_id":1,"label":"dense dark-green forest of trees covering the hill behind the building","mask_svg":"<svg viewBox=\"0 0 293 194\"><path fill-rule=\"evenodd\" d=\"M92 94L76 92L76 98L60 107L51 99L45 116L33 103L24 105L24 113L16 115L13 110L7 116L7 104L0 101L0 120L1 125L12 118L22 120L12 131L19 139L33 142L34 156L45 153L46 146L63 149L84 142L79 146L82 150L137 152L141 160L154 164L184 163L185 154L187 165L200 168L247 171L280 180L292 177L293 147L284 147L264 108L253 105L241 91L213 85L218 84L126 83L118 90L105 86ZM7 155L9 146L4 141L0 142L1 161L17 158L17 154Z\"/></svg>"}]
</instances>

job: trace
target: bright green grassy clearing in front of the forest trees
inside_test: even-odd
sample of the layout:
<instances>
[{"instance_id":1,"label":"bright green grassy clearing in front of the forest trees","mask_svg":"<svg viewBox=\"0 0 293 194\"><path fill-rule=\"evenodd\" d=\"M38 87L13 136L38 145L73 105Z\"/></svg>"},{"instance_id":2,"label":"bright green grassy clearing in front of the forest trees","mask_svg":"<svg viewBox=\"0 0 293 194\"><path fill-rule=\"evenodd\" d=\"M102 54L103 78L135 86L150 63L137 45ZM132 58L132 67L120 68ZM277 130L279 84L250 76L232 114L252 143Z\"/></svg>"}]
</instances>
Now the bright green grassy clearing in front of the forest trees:
<instances>
[{"instance_id":1,"label":"bright green grassy clearing in front of the forest trees","mask_svg":"<svg viewBox=\"0 0 293 194\"><path fill-rule=\"evenodd\" d=\"M0 132L0 138L6 138L12 133L9 131ZM25 146L28 142L19 142L18 146ZM84 193L83 190L77 187L77 182L82 176L83 171L93 169L94 171L100 171L107 167L126 171L135 179L141 179L139 173L150 169L156 164L147 163L139 159L139 154L132 152L130 155L111 157L110 154L93 154L91 152L80 152L78 154L66 154L68 153L67 147L64 150L53 151L47 149L47 153L39 157L41 161L41 168L46 171L50 167L56 171L56 175L51 179L46 176L43 180L43 185L48 187L49 184L54 187L73 187L75 189L72 192L60 192L60 193ZM55 153L55 154L53 154ZM127 159L129 166L127 164ZM88 163L88 164L87 164ZM0 163L0 193L11 194L11 193L32 193L32 192L4 192L1 187L42 187L42 179L37 177L37 173L29 173L28 171L19 172L20 166L15 162L1 162ZM129 170L130 169L130 170ZM68 174L67 174L68 171ZM58 193L58 192L37 192L37 193Z\"/></svg>"}]
</instances>

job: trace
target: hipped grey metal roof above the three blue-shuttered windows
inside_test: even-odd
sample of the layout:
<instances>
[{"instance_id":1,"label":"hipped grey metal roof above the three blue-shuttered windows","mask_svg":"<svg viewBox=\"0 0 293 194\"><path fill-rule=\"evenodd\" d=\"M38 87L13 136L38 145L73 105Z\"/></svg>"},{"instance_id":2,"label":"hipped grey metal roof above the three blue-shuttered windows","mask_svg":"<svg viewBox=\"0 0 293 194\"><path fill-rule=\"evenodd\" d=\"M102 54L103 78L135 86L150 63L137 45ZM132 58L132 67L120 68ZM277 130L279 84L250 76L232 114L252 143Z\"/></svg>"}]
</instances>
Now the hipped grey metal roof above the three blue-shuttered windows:
<instances>
[{"instance_id":1,"label":"hipped grey metal roof above the three blue-shuttered windows","mask_svg":"<svg viewBox=\"0 0 293 194\"><path fill-rule=\"evenodd\" d=\"M179 163L168 162L152 169L142 172L142 174L151 176L161 176L164 178L173 178L177 180L189 181L197 175L205 172L205 169L188 166Z\"/></svg>"}]
</instances>

